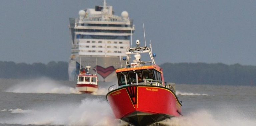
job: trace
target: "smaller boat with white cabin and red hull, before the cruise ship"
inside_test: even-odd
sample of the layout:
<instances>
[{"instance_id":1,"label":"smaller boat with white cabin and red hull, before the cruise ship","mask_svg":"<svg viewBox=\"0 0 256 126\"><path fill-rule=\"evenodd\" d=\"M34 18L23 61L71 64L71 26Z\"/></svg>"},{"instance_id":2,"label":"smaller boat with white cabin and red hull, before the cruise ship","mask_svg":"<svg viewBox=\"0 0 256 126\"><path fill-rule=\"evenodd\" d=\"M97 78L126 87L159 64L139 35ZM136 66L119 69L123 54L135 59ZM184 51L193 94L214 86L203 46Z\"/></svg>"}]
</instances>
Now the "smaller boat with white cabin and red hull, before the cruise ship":
<instances>
[{"instance_id":1,"label":"smaller boat with white cabin and red hull, before the cruise ship","mask_svg":"<svg viewBox=\"0 0 256 126\"><path fill-rule=\"evenodd\" d=\"M93 93L99 89L97 75L90 74L90 69L92 69L91 66L80 68L77 78L76 90L82 93Z\"/></svg>"}]
</instances>

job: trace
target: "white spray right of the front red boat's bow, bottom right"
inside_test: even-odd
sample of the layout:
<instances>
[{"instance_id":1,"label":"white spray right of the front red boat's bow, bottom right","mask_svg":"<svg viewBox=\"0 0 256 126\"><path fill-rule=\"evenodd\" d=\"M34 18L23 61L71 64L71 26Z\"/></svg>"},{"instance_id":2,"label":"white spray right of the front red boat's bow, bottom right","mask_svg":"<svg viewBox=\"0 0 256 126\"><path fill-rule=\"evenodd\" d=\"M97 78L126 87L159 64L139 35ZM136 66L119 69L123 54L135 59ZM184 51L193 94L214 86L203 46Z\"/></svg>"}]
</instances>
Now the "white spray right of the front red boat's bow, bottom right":
<instances>
[{"instance_id":1,"label":"white spray right of the front red boat's bow, bottom right","mask_svg":"<svg viewBox=\"0 0 256 126\"><path fill-rule=\"evenodd\" d=\"M199 110L182 117L166 119L160 123L168 126L255 126L255 118L234 111L236 110L225 109L215 112Z\"/></svg>"}]
</instances>

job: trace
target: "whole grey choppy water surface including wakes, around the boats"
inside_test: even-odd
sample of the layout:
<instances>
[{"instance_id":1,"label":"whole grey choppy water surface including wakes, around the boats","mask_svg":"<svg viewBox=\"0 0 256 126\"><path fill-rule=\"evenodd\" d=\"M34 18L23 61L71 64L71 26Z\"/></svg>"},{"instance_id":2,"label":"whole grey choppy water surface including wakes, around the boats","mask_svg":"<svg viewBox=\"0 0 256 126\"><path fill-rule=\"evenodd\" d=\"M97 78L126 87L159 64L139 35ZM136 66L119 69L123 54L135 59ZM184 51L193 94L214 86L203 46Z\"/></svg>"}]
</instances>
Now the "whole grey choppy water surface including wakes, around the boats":
<instances>
[{"instance_id":1,"label":"whole grey choppy water surface including wakes, around the boats","mask_svg":"<svg viewBox=\"0 0 256 126\"><path fill-rule=\"evenodd\" d=\"M106 101L110 85L99 83L91 95L70 81L0 79L0 125L126 126ZM176 90L183 116L162 125L256 126L256 86L176 84Z\"/></svg>"}]
</instances>

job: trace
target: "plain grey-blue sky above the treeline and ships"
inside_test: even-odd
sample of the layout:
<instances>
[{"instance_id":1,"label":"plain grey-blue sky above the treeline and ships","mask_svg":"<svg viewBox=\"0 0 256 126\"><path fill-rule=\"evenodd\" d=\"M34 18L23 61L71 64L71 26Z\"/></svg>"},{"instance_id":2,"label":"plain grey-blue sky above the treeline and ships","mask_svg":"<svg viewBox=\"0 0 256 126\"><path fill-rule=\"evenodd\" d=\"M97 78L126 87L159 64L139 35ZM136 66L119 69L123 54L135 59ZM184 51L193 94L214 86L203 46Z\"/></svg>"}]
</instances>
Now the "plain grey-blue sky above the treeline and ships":
<instances>
[{"instance_id":1,"label":"plain grey-blue sky above the treeline and ships","mask_svg":"<svg viewBox=\"0 0 256 126\"><path fill-rule=\"evenodd\" d=\"M153 45L157 64L256 65L255 0L106 0L134 19L133 42ZM0 61L68 62L69 18L103 0L0 0ZM135 44L135 43L134 43Z\"/></svg>"}]
</instances>

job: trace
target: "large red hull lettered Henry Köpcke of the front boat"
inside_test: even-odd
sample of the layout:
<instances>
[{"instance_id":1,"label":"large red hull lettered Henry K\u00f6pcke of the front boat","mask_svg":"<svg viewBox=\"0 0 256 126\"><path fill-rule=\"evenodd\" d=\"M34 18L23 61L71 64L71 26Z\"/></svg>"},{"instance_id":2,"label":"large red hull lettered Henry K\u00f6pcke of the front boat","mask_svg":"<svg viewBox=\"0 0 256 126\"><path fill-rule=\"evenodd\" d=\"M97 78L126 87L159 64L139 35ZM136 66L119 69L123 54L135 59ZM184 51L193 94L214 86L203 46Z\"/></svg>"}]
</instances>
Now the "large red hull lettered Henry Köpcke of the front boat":
<instances>
[{"instance_id":1,"label":"large red hull lettered Henry K\u00f6pcke of the front boat","mask_svg":"<svg viewBox=\"0 0 256 126\"><path fill-rule=\"evenodd\" d=\"M106 98L116 118L136 126L181 115L177 96L165 87L130 85L109 92Z\"/></svg>"}]
</instances>

